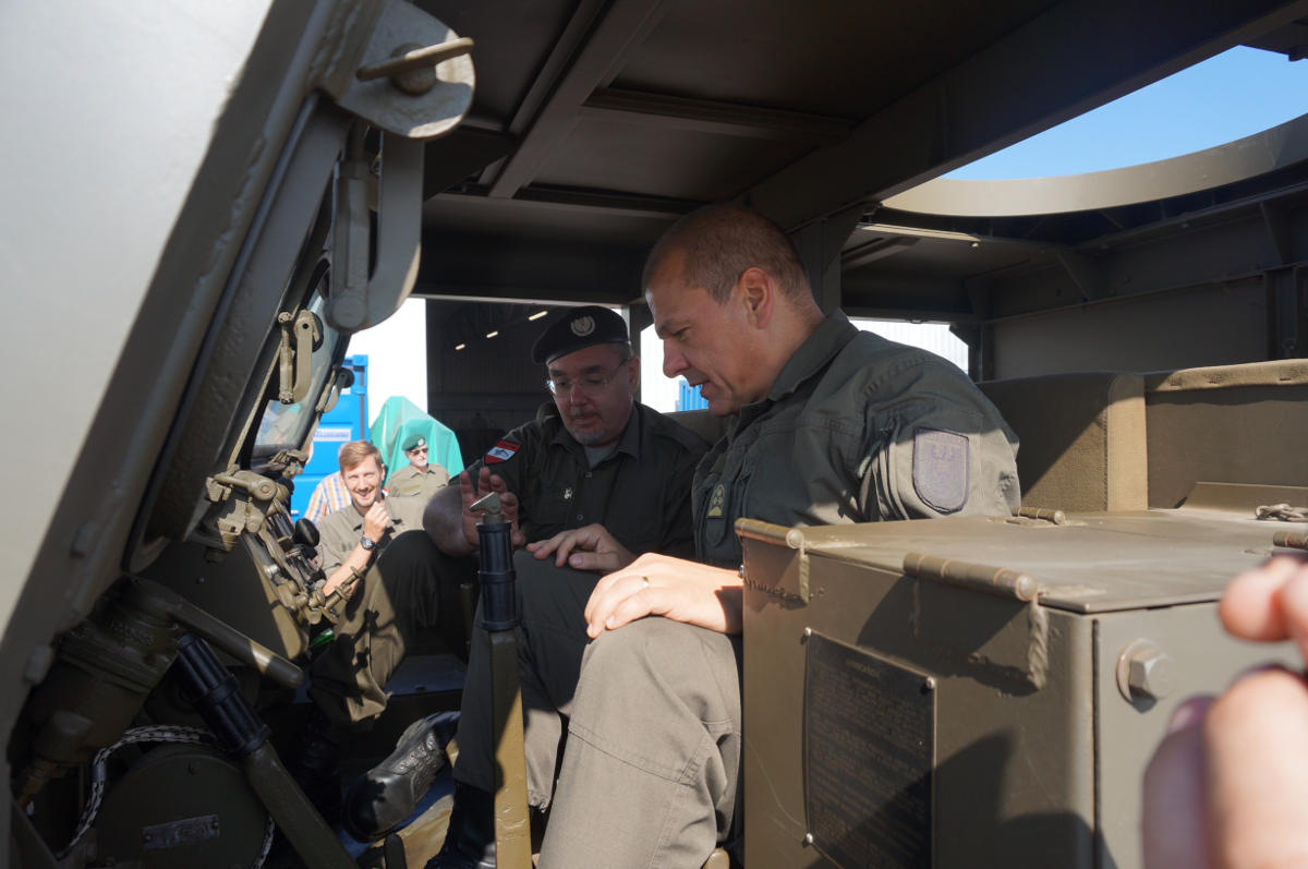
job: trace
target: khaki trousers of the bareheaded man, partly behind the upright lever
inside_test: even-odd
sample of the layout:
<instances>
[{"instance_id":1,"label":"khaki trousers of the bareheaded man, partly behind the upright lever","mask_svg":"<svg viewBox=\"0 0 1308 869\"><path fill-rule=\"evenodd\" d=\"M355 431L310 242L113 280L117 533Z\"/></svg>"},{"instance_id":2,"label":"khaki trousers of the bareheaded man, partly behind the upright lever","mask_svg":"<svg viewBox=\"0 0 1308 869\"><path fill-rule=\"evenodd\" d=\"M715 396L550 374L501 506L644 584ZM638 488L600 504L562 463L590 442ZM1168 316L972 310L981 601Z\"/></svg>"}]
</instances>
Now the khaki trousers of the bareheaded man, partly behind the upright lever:
<instances>
[{"instance_id":1,"label":"khaki trousers of the bareheaded man, partly behind the upright lever","mask_svg":"<svg viewBox=\"0 0 1308 869\"><path fill-rule=\"evenodd\" d=\"M582 612L599 577L525 552L514 565L528 800L551 806L540 866L701 866L736 805L739 640L647 618L587 643ZM480 624L479 612L455 777L492 790Z\"/></svg>"}]
</instances>

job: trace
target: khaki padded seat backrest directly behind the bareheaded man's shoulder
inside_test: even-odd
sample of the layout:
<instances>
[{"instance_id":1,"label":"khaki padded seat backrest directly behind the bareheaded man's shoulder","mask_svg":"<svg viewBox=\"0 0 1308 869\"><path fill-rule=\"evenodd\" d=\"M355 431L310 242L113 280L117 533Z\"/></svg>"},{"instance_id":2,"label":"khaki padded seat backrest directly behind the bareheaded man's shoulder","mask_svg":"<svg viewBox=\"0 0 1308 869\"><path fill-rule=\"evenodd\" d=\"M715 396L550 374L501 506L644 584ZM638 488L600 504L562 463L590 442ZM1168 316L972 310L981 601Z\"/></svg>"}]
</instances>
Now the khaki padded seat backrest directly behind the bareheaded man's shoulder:
<instances>
[{"instance_id":1,"label":"khaki padded seat backrest directly behind the bareheaded man's shoulder","mask_svg":"<svg viewBox=\"0 0 1308 869\"><path fill-rule=\"evenodd\" d=\"M1088 372L978 383L1018 434L1024 508L1142 510L1144 380Z\"/></svg>"}]
</instances>

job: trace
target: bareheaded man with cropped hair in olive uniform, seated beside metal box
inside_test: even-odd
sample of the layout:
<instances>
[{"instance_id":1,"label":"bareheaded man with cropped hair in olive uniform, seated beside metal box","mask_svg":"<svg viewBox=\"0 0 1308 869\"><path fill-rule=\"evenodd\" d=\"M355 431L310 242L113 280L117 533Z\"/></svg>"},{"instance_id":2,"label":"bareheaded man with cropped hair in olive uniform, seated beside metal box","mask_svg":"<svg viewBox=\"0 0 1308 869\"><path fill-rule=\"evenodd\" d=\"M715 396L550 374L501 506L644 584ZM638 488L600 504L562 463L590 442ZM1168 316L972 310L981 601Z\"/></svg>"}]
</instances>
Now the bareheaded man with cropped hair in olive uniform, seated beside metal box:
<instances>
[{"instance_id":1,"label":"bareheaded man with cropped hair in olive uniform, seated beside metal box","mask_svg":"<svg viewBox=\"0 0 1308 869\"><path fill-rule=\"evenodd\" d=\"M599 581L582 623L556 612L527 635L525 658L569 715L543 869L698 866L726 839L742 746L736 518L812 525L1019 505L1016 438L994 407L943 360L859 334L838 311L824 318L789 239L760 215L684 219L651 254L645 285L664 373L735 419L696 472L698 560L644 555ZM523 603L527 619L542 602ZM594 641L566 684L549 662L578 630Z\"/></svg>"}]
</instances>

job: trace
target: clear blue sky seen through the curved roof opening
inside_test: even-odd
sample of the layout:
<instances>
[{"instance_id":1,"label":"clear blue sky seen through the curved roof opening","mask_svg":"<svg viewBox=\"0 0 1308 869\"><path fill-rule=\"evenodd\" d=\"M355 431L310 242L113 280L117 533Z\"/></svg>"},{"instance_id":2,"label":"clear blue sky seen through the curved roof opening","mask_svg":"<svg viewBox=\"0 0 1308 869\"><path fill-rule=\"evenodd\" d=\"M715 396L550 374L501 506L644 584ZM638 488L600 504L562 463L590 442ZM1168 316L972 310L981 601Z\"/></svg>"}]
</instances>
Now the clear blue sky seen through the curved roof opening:
<instances>
[{"instance_id":1,"label":"clear blue sky seen through the curved roof opening","mask_svg":"<svg viewBox=\"0 0 1308 869\"><path fill-rule=\"evenodd\" d=\"M1308 60L1237 46L947 178L1042 178L1176 157L1308 113Z\"/></svg>"}]
</instances>

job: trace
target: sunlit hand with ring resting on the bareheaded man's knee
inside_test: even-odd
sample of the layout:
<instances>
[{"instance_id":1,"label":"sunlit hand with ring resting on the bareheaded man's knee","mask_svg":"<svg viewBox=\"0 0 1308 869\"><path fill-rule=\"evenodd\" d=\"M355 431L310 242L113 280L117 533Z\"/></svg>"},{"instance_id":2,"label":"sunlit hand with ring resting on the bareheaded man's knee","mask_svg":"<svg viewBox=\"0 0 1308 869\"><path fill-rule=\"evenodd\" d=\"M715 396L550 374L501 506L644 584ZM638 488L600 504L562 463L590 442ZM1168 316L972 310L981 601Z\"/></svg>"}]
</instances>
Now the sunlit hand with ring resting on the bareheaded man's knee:
<instances>
[{"instance_id":1,"label":"sunlit hand with ring resting on the bareheaded man's knee","mask_svg":"<svg viewBox=\"0 0 1308 869\"><path fill-rule=\"evenodd\" d=\"M594 639L646 615L662 615L721 633L739 633L743 620L740 576L735 571L646 552L595 585L586 602L586 633Z\"/></svg>"}]
</instances>

